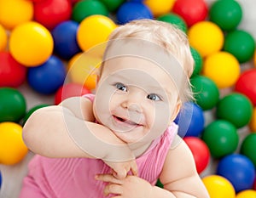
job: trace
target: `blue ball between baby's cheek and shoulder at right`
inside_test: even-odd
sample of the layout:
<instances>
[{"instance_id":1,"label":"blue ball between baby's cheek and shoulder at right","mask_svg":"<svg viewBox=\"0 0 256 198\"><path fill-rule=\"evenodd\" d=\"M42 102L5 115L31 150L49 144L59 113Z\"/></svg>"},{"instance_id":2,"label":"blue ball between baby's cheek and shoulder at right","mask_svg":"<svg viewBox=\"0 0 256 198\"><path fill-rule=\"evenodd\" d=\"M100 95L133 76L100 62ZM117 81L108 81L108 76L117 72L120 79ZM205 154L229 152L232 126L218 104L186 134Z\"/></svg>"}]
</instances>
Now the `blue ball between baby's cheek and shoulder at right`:
<instances>
[{"instance_id":1,"label":"blue ball between baby's cheek and shoulder at right","mask_svg":"<svg viewBox=\"0 0 256 198\"><path fill-rule=\"evenodd\" d=\"M198 137L202 133L205 125L203 110L193 102L187 102L174 121L178 125L177 133L181 137Z\"/></svg>"}]
</instances>

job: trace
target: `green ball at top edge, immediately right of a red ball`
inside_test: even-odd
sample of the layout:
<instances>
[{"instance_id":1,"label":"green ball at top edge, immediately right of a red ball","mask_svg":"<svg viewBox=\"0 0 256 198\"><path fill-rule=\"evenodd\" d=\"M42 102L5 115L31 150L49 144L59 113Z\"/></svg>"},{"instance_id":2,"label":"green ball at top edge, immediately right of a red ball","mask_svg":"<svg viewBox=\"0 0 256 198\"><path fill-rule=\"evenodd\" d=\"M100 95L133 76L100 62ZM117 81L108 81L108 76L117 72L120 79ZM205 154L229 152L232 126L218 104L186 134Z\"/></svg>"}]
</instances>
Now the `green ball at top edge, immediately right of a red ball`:
<instances>
[{"instance_id":1,"label":"green ball at top edge, immediately right of a red ball","mask_svg":"<svg viewBox=\"0 0 256 198\"><path fill-rule=\"evenodd\" d=\"M235 30L236 26L240 24L241 18L241 6L234 0L215 1L209 10L209 20L224 31Z\"/></svg>"}]
</instances>

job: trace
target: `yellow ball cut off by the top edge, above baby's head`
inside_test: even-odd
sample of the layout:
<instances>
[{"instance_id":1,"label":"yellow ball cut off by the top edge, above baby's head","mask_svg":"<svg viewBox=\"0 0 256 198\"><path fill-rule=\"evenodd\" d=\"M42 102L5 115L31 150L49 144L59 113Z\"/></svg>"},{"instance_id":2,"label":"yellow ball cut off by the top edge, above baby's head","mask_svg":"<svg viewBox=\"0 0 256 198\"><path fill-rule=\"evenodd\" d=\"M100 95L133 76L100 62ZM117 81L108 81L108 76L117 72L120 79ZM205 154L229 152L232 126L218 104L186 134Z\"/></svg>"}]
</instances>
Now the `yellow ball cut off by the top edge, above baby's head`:
<instances>
[{"instance_id":1,"label":"yellow ball cut off by the top edge, above baby's head","mask_svg":"<svg viewBox=\"0 0 256 198\"><path fill-rule=\"evenodd\" d=\"M167 14L172 10L175 0L145 0L144 3L148 6L154 16Z\"/></svg>"}]
</instances>

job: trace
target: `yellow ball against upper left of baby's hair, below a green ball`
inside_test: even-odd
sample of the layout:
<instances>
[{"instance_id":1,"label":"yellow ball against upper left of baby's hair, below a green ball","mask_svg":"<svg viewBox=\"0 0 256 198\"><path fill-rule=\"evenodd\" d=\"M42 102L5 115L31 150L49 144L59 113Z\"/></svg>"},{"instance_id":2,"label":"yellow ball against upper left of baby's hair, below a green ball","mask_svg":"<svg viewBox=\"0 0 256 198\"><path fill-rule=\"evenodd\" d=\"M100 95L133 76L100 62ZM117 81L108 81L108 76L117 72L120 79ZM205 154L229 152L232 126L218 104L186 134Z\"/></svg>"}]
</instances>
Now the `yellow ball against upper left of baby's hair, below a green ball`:
<instances>
[{"instance_id":1,"label":"yellow ball against upper left of baby's hair, below a green ball","mask_svg":"<svg viewBox=\"0 0 256 198\"><path fill-rule=\"evenodd\" d=\"M113 20L103 15L91 15L81 21L77 33L79 47L87 51L89 48L106 42L109 34L117 27Z\"/></svg>"}]
</instances>

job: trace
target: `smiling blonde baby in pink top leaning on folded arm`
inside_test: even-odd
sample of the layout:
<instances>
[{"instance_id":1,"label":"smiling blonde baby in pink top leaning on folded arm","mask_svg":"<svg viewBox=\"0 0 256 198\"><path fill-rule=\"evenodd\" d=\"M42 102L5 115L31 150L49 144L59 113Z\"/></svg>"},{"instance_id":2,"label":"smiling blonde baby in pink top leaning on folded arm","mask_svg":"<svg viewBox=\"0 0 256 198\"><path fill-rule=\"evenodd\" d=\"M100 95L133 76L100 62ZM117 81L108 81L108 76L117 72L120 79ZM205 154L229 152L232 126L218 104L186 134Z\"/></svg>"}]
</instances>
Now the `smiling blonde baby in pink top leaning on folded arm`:
<instances>
[{"instance_id":1,"label":"smiling blonde baby in pink top leaning on folded arm","mask_svg":"<svg viewBox=\"0 0 256 198\"><path fill-rule=\"evenodd\" d=\"M209 197L173 122L193 99L193 64L187 37L175 26L119 26L95 94L39 109L26 122L24 141L38 155L20 198Z\"/></svg>"}]
</instances>

